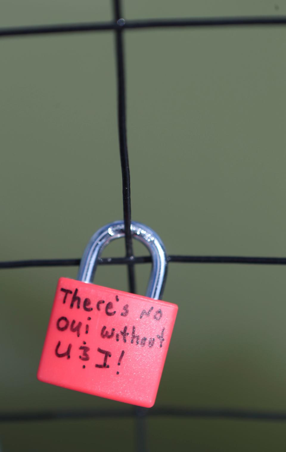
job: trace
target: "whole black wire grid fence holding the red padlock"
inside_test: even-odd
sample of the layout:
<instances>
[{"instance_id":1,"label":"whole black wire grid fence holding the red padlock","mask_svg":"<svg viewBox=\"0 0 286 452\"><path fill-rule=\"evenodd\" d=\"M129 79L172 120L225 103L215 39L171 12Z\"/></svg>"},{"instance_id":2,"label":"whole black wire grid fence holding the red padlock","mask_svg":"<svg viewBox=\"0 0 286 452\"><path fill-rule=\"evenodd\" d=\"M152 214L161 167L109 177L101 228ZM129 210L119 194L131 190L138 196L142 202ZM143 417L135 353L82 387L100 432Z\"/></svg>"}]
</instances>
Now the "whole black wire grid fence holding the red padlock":
<instances>
[{"instance_id":1,"label":"whole black wire grid fence holding the red padlock","mask_svg":"<svg viewBox=\"0 0 286 452\"><path fill-rule=\"evenodd\" d=\"M120 0L113 0L114 21L53 24L17 28L0 28L0 37L56 34L56 33L87 33L114 30L117 69L117 103L120 161L122 172L123 216L125 223L125 257L99 259L98 264L125 264L128 268L129 291L136 292L134 265L150 263L151 257L133 255L131 224L130 174L126 134L126 103L125 103L125 62L123 33L128 29L142 28L179 28L179 27L259 27L286 25L286 17L226 17L226 18L190 18L190 19L148 19L125 21L121 11ZM262 264L286 265L283 257L241 257L241 256L192 256L171 255L169 262L196 264ZM32 259L21 261L0 262L0 268L52 267L79 265L80 259ZM253 419L264 421L285 421L286 411L235 410L221 408L191 408L191 407L155 407L143 409L135 407L132 410L68 410L68 411L37 411L29 413L0 413L0 422L39 421L56 419L88 419L97 417L135 417L137 422L137 450L147 450L146 418L150 416L184 416L190 418L227 418Z\"/></svg>"}]
</instances>

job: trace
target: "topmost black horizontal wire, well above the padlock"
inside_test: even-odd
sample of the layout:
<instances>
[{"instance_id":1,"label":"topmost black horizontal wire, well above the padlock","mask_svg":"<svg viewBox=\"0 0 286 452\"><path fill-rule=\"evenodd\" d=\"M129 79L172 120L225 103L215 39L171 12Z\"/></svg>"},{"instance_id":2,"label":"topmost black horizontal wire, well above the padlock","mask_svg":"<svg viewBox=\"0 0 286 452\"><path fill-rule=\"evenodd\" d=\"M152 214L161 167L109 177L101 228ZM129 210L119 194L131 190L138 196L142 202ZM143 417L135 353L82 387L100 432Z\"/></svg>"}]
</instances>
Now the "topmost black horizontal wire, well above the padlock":
<instances>
[{"instance_id":1,"label":"topmost black horizontal wire, well above the padlock","mask_svg":"<svg viewBox=\"0 0 286 452\"><path fill-rule=\"evenodd\" d=\"M286 16L262 17L214 17L191 19L146 19L129 20L123 25L117 22L86 22L78 24L33 25L26 27L0 28L0 37L23 36L53 33L87 33L106 30L139 29L139 28L177 28L177 27L230 27L285 25Z\"/></svg>"}]
</instances>

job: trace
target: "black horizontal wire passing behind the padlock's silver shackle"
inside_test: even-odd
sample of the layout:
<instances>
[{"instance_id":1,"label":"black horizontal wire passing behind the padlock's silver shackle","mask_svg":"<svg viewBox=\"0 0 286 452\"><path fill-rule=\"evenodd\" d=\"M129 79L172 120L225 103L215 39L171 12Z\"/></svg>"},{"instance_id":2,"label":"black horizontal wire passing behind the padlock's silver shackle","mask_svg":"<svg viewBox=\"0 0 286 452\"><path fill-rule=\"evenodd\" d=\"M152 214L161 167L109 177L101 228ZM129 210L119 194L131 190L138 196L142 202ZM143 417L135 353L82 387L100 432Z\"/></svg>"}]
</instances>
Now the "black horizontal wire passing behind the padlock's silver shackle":
<instances>
[{"instance_id":1,"label":"black horizontal wire passing behind the padlock's silver shackle","mask_svg":"<svg viewBox=\"0 0 286 452\"><path fill-rule=\"evenodd\" d=\"M258 264L258 265L286 265L285 257L243 257L243 256L182 256L171 255L168 262L180 264ZM100 265L149 264L151 256L138 257L108 257L98 259ZM71 267L78 266L80 259L28 259L0 262L1 268L23 267Z\"/></svg>"}]
</instances>

